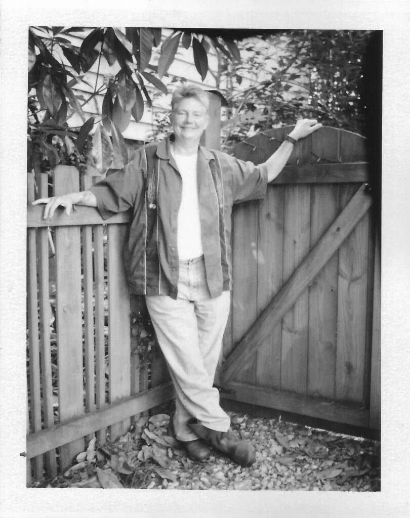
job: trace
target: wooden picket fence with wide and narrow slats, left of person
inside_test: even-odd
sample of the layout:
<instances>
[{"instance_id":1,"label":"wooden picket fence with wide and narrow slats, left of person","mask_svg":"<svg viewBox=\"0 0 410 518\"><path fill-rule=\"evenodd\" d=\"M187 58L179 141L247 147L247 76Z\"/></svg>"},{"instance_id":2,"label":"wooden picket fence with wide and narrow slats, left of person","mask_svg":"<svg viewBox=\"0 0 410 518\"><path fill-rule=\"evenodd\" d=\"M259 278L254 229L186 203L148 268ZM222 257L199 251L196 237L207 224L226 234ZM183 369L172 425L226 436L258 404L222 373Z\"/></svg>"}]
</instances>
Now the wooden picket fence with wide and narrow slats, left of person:
<instances>
[{"instance_id":1,"label":"wooden picket fence with wide and narrow slats, left of person","mask_svg":"<svg viewBox=\"0 0 410 518\"><path fill-rule=\"evenodd\" d=\"M79 182L75 168L54 171L55 194L78 191ZM28 175L29 202L48 195L47 183L47 174ZM174 397L162 356L142 364L131 338L139 308L122 265L129 215L103 224L95 209L70 217L59 209L50 229L43 212L27 206L27 483L65 470L94 433L100 444L115 440L133 416Z\"/></svg>"}]
</instances>

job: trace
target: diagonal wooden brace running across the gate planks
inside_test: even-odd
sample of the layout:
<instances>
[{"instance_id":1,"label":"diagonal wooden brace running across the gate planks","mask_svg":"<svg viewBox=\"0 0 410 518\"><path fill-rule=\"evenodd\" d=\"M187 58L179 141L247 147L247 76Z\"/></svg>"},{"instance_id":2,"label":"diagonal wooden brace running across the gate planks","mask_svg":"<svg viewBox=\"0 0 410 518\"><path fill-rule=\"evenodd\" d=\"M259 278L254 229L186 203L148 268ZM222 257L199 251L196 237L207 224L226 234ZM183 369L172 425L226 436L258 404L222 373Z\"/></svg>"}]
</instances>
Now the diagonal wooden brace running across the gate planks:
<instances>
[{"instance_id":1,"label":"diagonal wooden brace running across the gate planks","mask_svg":"<svg viewBox=\"0 0 410 518\"><path fill-rule=\"evenodd\" d=\"M292 308L304 290L312 284L320 270L340 248L371 205L372 198L367 194L367 184L363 184L291 278L271 300L258 320L239 341L232 353L225 359L221 371L223 382L229 381L247 359L258 350L275 325Z\"/></svg>"}]
</instances>

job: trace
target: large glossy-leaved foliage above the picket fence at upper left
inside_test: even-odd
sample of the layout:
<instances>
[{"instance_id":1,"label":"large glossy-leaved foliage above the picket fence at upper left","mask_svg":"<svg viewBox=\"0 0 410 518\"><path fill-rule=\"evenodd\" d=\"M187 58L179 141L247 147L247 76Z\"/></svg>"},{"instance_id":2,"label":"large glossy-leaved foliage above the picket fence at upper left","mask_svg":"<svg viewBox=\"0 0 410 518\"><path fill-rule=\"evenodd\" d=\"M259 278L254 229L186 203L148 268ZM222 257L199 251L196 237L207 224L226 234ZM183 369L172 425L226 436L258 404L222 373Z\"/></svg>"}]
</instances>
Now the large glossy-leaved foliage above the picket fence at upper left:
<instances>
[{"instance_id":1,"label":"large glossy-leaved foliage above the picket fence at upper left","mask_svg":"<svg viewBox=\"0 0 410 518\"><path fill-rule=\"evenodd\" d=\"M131 118L140 121L145 106L152 105L148 84L151 92L168 93L162 78L180 45L192 46L202 81L208 73L211 48L231 61L240 59L229 38L174 30L163 40L162 29L154 27L95 27L88 29L78 48L73 36L86 30L62 26L29 29L29 171L52 169L59 163L76 165L82 172L90 167L100 172L110 166L122 167L127 160L122 132ZM160 55L152 65L154 49ZM119 70L106 75L100 87L97 81L93 87L85 76L95 64L100 76L103 58ZM91 88L86 97L78 93L81 85ZM103 95L102 119L86 120L84 106L96 95ZM81 126L68 126L73 114L82 119Z\"/></svg>"}]
</instances>

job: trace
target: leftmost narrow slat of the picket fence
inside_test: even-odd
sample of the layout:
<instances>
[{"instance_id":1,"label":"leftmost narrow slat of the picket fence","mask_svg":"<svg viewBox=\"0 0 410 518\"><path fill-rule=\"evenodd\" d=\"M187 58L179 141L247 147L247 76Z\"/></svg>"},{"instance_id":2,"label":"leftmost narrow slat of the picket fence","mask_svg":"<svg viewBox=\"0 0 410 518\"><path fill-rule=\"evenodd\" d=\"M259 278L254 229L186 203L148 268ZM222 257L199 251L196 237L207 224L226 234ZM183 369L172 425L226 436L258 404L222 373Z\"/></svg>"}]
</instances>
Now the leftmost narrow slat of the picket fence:
<instances>
[{"instance_id":1,"label":"leftmost narrow slat of the picket fence","mask_svg":"<svg viewBox=\"0 0 410 518\"><path fill-rule=\"evenodd\" d=\"M34 177L27 175L27 202L34 201ZM36 229L27 229L27 328L29 330L29 363L30 363L30 413L31 429L41 429L41 395L40 395L40 344L38 339L37 312L37 250ZM33 459L34 478L43 477L43 455Z\"/></svg>"}]
</instances>

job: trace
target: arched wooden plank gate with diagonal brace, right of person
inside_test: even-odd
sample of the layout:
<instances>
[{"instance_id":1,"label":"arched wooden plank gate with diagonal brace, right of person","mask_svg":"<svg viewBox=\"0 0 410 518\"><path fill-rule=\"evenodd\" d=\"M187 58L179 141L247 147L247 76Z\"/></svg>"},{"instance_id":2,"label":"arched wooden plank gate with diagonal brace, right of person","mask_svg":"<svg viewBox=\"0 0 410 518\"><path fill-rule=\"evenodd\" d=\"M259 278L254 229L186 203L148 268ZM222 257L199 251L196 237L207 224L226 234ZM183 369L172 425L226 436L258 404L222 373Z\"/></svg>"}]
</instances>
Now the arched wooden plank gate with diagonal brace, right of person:
<instances>
[{"instance_id":1,"label":"arched wooden plank gate with diagonal brace, right of person","mask_svg":"<svg viewBox=\"0 0 410 518\"><path fill-rule=\"evenodd\" d=\"M234 154L267 159L290 127ZM365 139L321 128L298 142L261 202L235 207L224 398L380 426L380 253Z\"/></svg>"}]
</instances>

